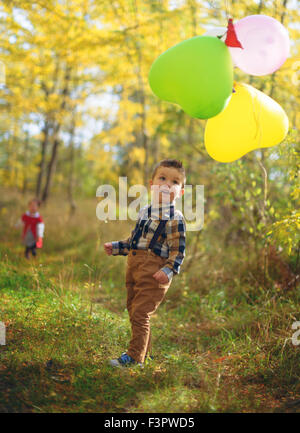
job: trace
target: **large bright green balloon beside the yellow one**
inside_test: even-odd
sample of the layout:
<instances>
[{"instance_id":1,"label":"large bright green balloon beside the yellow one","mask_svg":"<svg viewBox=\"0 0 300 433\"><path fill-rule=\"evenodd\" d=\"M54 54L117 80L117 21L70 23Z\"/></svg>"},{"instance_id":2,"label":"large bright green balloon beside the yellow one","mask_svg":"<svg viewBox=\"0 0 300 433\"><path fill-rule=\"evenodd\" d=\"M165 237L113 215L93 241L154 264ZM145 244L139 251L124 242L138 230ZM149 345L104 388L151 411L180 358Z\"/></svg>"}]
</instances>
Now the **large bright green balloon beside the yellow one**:
<instances>
[{"instance_id":1,"label":"large bright green balloon beside the yellow one","mask_svg":"<svg viewBox=\"0 0 300 433\"><path fill-rule=\"evenodd\" d=\"M213 36L187 39L154 61L149 84L156 96L180 105L191 117L216 116L226 107L232 93L229 50Z\"/></svg>"}]
</instances>

